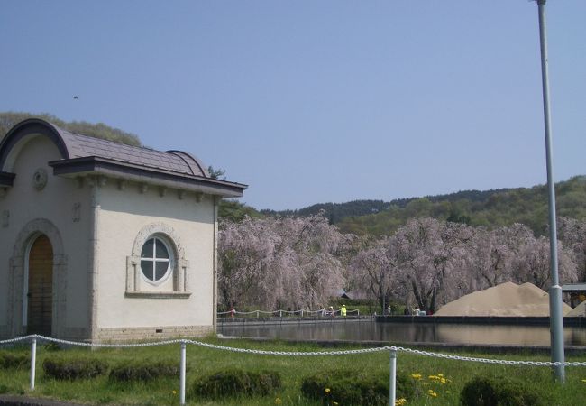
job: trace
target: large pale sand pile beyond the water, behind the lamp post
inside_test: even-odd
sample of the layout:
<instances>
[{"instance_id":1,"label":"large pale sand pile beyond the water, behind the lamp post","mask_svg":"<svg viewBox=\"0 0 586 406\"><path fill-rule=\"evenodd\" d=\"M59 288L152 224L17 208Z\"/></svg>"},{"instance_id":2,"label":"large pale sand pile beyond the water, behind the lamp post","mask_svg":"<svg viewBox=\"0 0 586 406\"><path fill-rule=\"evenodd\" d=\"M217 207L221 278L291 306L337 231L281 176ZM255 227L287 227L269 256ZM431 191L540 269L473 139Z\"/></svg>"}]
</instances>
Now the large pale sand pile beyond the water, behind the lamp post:
<instances>
[{"instance_id":1,"label":"large pale sand pile beyond the water, behind the lamp post","mask_svg":"<svg viewBox=\"0 0 586 406\"><path fill-rule=\"evenodd\" d=\"M572 308L565 303L565 315ZM532 283L501 283L453 300L435 316L549 316L549 294Z\"/></svg>"}]
</instances>

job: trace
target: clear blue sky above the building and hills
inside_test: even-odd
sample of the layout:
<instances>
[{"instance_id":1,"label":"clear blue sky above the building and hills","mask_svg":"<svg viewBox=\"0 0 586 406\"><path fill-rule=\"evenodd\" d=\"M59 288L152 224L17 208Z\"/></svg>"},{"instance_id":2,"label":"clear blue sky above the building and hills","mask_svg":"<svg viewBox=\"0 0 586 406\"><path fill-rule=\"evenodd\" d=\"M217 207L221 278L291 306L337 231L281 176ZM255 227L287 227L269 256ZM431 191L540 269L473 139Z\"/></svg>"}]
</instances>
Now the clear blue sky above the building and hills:
<instances>
[{"instance_id":1,"label":"clear blue sky above the building and hills","mask_svg":"<svg viewBox=\"0 0 586 406\"><path fill-rule=\"evenodd\" d=\"M546 13L565 180L586 174L586 1ZM254 208L546 180L527 0L3 0L0 50L0 111L192 152Z\"/></svg>"}]
</instances>

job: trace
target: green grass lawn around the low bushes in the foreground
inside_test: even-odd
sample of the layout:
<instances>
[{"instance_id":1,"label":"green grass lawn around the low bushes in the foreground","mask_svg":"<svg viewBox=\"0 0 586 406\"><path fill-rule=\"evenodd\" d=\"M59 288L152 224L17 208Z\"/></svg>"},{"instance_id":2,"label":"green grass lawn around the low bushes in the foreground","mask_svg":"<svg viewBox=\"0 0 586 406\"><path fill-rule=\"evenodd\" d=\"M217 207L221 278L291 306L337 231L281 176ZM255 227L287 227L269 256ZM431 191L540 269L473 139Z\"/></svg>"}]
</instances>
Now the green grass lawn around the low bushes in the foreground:
<instances>
[{"instance_id":1,"label":"green grass lawn around the low bushes in the foreground","mask_svg":"<svg viewBox=\"0 0 586 406\"><path fill-rule=\"evenodd\" d=\"M280 341L255 342L249 340L220 341L206 338L208 343L221 346L233 346L270 351L333 351L310 344L289 344ZM347 349L336 348L336 350ZM0 352L21 353L26 348L0 349ZM160 378L151 383L115 383L108 380L107 374L90 380L60 382L44 376L41 364L51 356L98 355L111 366L115 364L155 362L172 360L179 364L179 344L156 347L133 347L115 349L89 350L71 348L58 352L49 351L45 346L38 346L37 380L34 392L28 389L29 371L27 369L0 369L0 393L26 394L88 404L116 405L176 405L179 404L179 377ZM465 355L465 354L462 354ZM509 360L548 361L545 355L479 355L475 357L506 358ZM231 368L260 372L278 371L282 376L283 387L279 392L262 398L240 398L233 400L206 401L189 395L186 399L191 405L317 405L318 402L307 401L301 397L300 386L305 376L318 374L320 371L350 369L354 371L380 374L389 372L389 353L377 352L361 355L328 356L284 356L238 354L228 351L188 345L187 347L187 381L189 387L206 374ZM568 356L567 361L586 361L584 356ZM477 374L488 376L512 376L531 385L553 393L555 404L575 405L583 402L586 391L586 368L581 366L566 367L566 383L554 383L549 367L508 366L498 364L479 364L433 358L423 355L398 353L397 367L400 372L411 376L415 374L417 387L420 389L418 399L407 399L407 405L453 405L458 404L459 394L464 383ZM417 378L420 374L421 377ZM440 375L441 374L441 375ZM430 376L435 376L430 378ZM444 377L442 383L438 377ZM430 396L429 391L436 394Z\"/></svg>"}]
</instances>

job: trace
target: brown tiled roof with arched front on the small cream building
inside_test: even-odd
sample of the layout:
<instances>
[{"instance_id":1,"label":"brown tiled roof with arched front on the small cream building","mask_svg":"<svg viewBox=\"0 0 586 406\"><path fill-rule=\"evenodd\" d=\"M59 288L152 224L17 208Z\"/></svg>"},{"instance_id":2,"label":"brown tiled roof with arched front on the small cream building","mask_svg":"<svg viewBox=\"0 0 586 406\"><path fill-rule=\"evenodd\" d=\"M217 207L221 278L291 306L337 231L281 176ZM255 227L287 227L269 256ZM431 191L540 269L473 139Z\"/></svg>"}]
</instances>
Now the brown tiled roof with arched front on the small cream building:
<instances>
[{"instance_id":1,"label":"brown tiled roof with arched front on the small cream building","mask_svg":"<svg viewBox=\"0 0 586 406\"><path fill-rule=\"evenodd\" d=\"M11 151L30 134L43 134L59 149L61 159L49 164L57 175L104 173L141 181L172 182L174 187L201 190L224 197L243 195L246 185L209 177L204 164L182 151L156 151L150 148L114 143L87 135L73 134L57 125L31 118L14 125L0 143L0 186L12 186L14 153ZM12 163L11 163L12 161Z\"/></svg>"}]
</instances>

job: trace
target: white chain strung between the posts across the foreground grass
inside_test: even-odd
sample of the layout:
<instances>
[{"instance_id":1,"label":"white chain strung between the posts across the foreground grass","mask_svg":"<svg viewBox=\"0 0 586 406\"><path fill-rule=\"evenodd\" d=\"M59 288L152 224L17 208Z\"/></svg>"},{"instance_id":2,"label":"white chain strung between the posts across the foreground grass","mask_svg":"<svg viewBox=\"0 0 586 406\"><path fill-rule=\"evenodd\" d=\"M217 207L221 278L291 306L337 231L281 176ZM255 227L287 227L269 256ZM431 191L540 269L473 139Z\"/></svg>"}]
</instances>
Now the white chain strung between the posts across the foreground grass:
<instances>
[{"instance_id":1,"label":"white chain strung between the posts across the foreground grass","mask_svg":"<svg viewBox=\"0 0 586 406\"><path fill-rule=\"evenodd\" d=\"M547 362L547 361L509 361L504 359L490 359L490 358L478 358L473 356L461 356L461 355L449 355L449 354L440 354L440 353L432 353L430 351L422 351L413 348L405 348L402 346L379 346L374 348L361 348L361 349L353 349L353 350L343 350L343 351L308 351L308 352L301 352L301 351L263 351L263 350L255 350L250 348L235 348L233 346L217 346L215 344L204 343L201 341L195 340L186 340L186 339L174 339L174 340L167 340L167 341L155 341L151 343L134 343L134 344L101 344L101 343L82 343L78 341L69 341L69 340L62 340L59 338L52 338L52 337L43 337L39 335L32 335L26 337L16 337L8 340L0 341L0 345L3 344L12 344L19 341L24 341L28 339L40 339L42 341L49 341L58 344L64 344L68 346L87 346L87 347L103 347L103 348L135 348L135 347L145 347L145 346L167 346L169 344L192 344L194 346L202 346L206 348L216 349L216 350L223 350L223 351L231 351L233 353L241 353L241 354L254 354L254 355L279 355L279 356L324 356L324 355L357 355L357 354L370 354L370 353L378 353L381 351L396 351L396 352L404 352L414 355L422 355L422 356L430 356L435 358L443 358L443 359L450 359L454 361L466 361L466 362L475 362L475 363L483 363L483 364L504 364L504 365L522 365L522 366L586 366L586 362Z\"/></svg>"}]
</instances>

